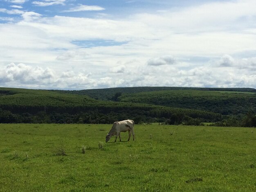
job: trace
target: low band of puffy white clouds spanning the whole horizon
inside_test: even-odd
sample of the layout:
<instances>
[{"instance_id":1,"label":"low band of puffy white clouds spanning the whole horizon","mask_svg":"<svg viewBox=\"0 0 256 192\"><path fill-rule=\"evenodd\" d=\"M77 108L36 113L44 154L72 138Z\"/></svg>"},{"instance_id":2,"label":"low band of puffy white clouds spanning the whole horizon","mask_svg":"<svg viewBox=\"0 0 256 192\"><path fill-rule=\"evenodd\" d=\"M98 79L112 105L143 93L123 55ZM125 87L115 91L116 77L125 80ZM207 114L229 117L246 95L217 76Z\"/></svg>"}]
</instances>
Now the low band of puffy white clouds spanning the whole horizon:
<instances>
[{"instance_id":1,"label":"low band of puffy white clouds spanning the whole horizon","mask_svg":"<svg viewBox=\"0 0 256 192\"><path fill-rule=\"evenodd\" d=\"M221 60L221 58L220 58ZM247 60L251 65L251 58ZM255 60L255 59L253 59ZM218 63L218 60L216 61ZM218 63L219 64L219 63ZM56 71L53 67L11 63L0 69L0 87L14 86L51 89L91 89L124 86L185 86L185 87L255 87L256 71L227 67L193 67L179 69L172 65L122 66L123 75L106 72L107 67L95 71ZM112 68L113 72L118 72ZM116 70L116 71L115 71Z\"/></svg>"}]
</instances>

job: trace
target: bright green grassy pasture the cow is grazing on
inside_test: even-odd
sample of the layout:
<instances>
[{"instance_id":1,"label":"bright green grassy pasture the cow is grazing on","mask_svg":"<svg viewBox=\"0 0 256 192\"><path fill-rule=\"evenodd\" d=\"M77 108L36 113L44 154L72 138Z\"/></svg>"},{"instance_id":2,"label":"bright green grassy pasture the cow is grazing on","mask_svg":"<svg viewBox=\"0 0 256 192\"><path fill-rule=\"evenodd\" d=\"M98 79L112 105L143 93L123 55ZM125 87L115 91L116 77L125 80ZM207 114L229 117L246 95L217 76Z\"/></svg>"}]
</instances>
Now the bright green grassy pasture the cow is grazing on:
<instances>
[{"instance_id":1,"label":"bright green grassy pasture the cow is grazing on","mask_svg":"<svg viewBox=\"0 0 256 192\"><path fill-rule=\"evenodd\" d=\"M0 124L0 191L256 191L254 128L110 128Z\"/></svg>"}]
</instances>

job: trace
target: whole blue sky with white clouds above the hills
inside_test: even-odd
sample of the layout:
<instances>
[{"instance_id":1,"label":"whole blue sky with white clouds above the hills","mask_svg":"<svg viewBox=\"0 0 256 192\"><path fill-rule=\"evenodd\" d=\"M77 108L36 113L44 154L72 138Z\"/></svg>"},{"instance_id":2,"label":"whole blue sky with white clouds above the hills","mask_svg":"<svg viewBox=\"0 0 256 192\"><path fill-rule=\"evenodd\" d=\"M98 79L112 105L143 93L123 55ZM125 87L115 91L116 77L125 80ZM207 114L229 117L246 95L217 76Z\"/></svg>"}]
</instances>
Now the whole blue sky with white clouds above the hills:
<instances>
[{"instance_id":1,"label":"whole blue sky with white clouds above the hills","mask_svg":"<svg viewBox=\"0 0 256 192\"><path fill-rule=\"evenodd\" d=\"M256 88L255 0L0 0L0 87Z\"/></svg>"}]
</instances>

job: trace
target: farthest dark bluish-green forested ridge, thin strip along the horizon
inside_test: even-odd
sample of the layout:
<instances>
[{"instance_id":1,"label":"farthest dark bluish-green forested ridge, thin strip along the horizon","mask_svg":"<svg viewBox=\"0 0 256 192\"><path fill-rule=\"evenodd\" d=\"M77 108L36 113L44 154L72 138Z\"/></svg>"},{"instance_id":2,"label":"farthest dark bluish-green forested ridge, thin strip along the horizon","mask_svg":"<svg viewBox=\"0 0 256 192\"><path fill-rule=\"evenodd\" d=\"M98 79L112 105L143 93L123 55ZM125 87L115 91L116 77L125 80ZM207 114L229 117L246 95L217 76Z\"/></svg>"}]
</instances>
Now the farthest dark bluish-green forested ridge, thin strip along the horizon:
<instances>
[{"instance_id":1,"label":"farthest dark bluish-green forested ridge, thin strip along the horizon","mask_svg":"<svg viewBox=\"0 0 256 192\"><path fill-rule=\"evenodd\" d=\"M140 92L153 92L164 90L200 90L200 91L228 91L228 92L252 92L256 93L256 89L252 88L200 88L200 87L117 87L106 89L85 89L80 91L63 91L52 90L60 93L71 93L88 95L92 98L99 100L115 100L117 93L140 93ZM118 96L118 95L117 95Z\"/></svg>"}]
</instances>

